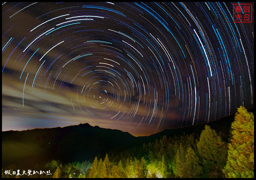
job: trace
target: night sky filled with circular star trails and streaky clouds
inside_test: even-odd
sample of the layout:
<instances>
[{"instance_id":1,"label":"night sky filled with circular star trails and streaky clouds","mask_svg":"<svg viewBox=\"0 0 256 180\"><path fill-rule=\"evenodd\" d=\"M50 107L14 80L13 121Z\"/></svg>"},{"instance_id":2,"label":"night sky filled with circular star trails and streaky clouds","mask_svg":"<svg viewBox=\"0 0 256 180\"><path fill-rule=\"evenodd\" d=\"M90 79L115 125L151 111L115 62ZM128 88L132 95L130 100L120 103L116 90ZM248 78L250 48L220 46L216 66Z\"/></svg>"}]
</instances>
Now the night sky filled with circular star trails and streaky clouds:
<instances>
[{"instance_id":1,"label":"night sky filled with circular star trails and streaky clouds","mask_svg":"<svg viewBox=\"0 0 256 180\"><path fill-rule=\"evenodd\" d=\"M251 11L234 23L229 2L3 2L2 131L141 136L252 108Z\"/></svg>"}]
</instances>

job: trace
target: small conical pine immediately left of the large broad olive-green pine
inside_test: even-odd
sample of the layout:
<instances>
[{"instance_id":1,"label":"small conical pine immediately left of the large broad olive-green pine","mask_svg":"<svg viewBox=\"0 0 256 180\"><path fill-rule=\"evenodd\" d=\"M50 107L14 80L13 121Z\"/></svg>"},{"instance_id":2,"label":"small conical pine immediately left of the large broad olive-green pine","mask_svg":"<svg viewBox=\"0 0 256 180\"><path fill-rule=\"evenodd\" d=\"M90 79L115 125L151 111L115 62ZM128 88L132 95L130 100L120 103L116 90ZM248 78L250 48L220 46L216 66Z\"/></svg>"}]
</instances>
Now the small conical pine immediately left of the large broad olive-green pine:
<instances>
[{"instance_id":1,"label":"small conical pine immediately left of the large broad olive-green pine","mask_svg":"<svg viewBox=\"0 0 256 180\"><path fill-rule=\"evenodd\" d=\"M188 147L186 160L184 164L184 178L198 178L202 174L202 167L200 166L199 158L195 151Z\"/></svg>"}]
</instances>

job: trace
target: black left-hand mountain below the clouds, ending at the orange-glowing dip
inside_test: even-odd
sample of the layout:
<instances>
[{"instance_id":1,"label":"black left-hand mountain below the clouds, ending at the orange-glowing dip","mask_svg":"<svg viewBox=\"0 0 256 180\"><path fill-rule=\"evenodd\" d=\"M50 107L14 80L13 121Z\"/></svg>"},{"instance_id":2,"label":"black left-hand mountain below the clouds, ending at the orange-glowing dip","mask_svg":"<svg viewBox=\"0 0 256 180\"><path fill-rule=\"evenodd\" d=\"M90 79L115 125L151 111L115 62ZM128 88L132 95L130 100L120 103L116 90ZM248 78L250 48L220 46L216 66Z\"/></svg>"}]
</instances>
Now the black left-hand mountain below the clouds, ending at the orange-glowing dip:
<instances>
[{"instance_id":1,"label":"black left-hand mountain below the clouds, ending at the orange-glowing dip","mask_svg":"<svg viewBox=\"0 0 256 180\"><path fill-rule=\"evenodd\" d=\"M112 148L130 148L137 138L120 130L90 126L88 123L63 128L43 128L2 132L2 167L23 167L49 160L93 161Z\"/></svg>"}]
</instances>

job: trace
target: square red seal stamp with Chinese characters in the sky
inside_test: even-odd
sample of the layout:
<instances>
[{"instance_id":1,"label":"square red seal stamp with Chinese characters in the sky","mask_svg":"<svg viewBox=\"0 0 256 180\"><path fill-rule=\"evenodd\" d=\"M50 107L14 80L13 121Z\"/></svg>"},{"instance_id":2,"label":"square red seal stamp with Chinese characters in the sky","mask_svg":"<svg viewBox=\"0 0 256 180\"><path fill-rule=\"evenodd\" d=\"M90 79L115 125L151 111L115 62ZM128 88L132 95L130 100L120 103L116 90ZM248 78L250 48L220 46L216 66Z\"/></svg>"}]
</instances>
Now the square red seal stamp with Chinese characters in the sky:
<instances>
[{"instance_id":1,"label":"square red seal stamp with Chinese characters in the sky","mask_svg":"<svg viewBox=\"0 0 256 180\"><path fill-rule=\"evenodd\" d=\"M233 4L233 22L251 23L252 4Z\"/></svg>"}]
</instances>

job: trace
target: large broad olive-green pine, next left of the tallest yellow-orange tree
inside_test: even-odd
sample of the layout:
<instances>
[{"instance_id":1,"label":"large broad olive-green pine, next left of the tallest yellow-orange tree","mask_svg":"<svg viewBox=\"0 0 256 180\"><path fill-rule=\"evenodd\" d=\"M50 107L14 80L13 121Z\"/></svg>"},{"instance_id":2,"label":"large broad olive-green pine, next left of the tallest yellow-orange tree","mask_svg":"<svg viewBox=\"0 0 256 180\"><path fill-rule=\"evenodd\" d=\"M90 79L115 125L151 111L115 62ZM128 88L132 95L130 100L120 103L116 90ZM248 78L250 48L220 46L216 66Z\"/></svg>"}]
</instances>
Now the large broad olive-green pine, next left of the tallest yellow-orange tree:
<instances>
[{"instance_id":1,"label":"large broad olive-green pine, next left of the tallest yellow-orange tree","mask_svg":"<svg viewBox=\"0 0 256 180\"><path fill-rule=\"evenodd\" d=\"M205 125L197 143L198 152L202 158L205 178L223 177L222 169L226 163L227 148L215 130Z\"/></svg>"}]
</instances>

